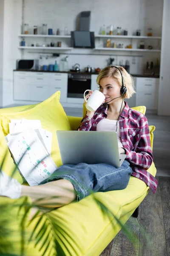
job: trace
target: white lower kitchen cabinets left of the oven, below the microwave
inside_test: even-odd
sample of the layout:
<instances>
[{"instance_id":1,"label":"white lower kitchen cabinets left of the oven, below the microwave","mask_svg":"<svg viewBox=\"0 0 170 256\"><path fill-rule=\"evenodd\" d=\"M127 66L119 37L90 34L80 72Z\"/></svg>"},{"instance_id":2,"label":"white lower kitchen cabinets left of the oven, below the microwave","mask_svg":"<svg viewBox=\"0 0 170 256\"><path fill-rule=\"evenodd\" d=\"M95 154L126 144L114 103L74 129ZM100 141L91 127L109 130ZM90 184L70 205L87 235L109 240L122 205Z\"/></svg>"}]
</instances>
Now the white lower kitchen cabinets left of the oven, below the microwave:
<instances>
[{"instance_id":1,"label":"white lower kitchen cabinets left of the oven, below the microwave","mask_svg":"<svg viewBox=\"0 0 170 256\"><path fill-rule=\"evenodd\" d=\"M67 73L14 71L14 100L41 102L60 90L67 102Z\"/></svg>"}]
</instances>

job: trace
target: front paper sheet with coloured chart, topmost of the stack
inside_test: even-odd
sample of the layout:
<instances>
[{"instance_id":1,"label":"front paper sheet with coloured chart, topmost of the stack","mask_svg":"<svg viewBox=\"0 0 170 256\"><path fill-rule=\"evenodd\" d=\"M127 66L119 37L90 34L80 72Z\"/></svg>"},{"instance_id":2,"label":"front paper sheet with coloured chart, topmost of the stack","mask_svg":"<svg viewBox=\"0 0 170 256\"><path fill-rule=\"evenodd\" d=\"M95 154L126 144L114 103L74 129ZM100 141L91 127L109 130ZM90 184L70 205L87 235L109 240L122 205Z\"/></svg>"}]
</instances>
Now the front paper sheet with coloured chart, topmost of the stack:
<instances>
[{"instance_id":1,"label":"front paper sheet with coloured chart, topmost of the stack","mask_svg":"<svg viewBox=\"0 0 170 256\"><path fill-rule=\"evenodd\" d=\"M40 183L57 169L34 130L14 136L7 144L29 185L34 186L34 182ZM31 179L34 181L30 181Z\"/></svg>"}]
</instances>

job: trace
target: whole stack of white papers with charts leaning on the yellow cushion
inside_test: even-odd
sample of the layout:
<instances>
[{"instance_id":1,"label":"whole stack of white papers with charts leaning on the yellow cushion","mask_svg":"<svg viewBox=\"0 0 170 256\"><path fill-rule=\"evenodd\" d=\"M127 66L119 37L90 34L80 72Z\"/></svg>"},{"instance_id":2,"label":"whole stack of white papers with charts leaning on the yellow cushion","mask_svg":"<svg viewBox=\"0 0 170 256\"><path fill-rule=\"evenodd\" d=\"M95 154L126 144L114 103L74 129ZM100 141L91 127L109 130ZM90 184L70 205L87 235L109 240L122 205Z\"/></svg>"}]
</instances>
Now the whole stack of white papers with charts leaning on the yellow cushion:
<instances>
[{"instance_id":1,"label":"whole stack of white papers with charts leaning on the yellow cushion","mask_svg":"<svg viewBox=\"0 0 170 256\"><path fill-rule=\"evenodd\" d=\"M30 186L38 185L57 169L51 158L52 134L40 120L10 120L6 142L21 175Z\"/></svg>"}]
</instances>

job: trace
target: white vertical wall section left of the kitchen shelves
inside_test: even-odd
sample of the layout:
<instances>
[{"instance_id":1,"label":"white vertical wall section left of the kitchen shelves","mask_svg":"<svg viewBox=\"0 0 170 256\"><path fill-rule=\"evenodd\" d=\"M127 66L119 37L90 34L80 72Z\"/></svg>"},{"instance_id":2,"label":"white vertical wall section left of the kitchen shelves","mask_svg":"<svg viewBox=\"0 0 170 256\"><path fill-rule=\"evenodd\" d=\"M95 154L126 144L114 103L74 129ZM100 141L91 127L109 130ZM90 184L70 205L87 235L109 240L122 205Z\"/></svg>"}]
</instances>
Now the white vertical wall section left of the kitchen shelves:
<instances>
[{"instance_id":1,"label":"white vertical wall section left of the kitchen shelves","mask_svg":"<svg viewBox=\"0 0 170 256\"><path fill-rule=\"evenodd\" d=\"M22 0L4 1L3 20L3 106L13 104L13 72L16 59L21 58L17 49L22 17Z\"/></svg>"}]
</instances>

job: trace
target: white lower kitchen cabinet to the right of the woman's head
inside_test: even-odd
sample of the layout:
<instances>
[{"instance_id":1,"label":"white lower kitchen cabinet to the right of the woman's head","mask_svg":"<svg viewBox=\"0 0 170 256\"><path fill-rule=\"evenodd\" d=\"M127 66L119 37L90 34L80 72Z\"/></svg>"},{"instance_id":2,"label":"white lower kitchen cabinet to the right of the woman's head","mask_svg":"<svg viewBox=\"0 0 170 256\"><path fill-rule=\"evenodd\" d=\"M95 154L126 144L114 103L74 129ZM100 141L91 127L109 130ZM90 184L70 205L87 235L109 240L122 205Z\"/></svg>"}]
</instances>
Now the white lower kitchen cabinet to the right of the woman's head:
<instances>
[{"instance_id":1,"label":"white lower kitchen cabinet to the right of the woman's head","mask_svg":"<svg viewBox=\"0 0 170 256\"><path fill-rule=\"evenodd\" d=\"M159 78L136 77L136 106L148 111L158 109Z\"/></svg>"}]
</instances>

